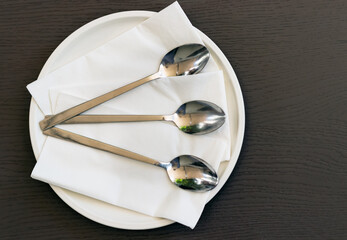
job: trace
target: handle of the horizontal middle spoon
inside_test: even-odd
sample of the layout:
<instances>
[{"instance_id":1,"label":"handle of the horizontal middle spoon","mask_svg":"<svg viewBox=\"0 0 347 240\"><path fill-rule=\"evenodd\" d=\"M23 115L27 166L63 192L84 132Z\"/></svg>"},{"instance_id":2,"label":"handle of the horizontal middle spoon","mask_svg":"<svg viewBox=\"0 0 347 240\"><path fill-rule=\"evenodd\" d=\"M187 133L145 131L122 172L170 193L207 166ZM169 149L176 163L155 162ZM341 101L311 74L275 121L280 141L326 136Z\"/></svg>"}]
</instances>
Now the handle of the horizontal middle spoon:
<instances>
[{"instance_id":1,"label":"handle of the horizontal middle spoon","mask_svg":"<svg viewBox=\"0 0 347 240\"><path fill-rule=\"evenodd\" d=\"M48 115L46 117L51 117ZM161 115L78 115L61 124L163 121Z\"/></svg>"}]
</instances>

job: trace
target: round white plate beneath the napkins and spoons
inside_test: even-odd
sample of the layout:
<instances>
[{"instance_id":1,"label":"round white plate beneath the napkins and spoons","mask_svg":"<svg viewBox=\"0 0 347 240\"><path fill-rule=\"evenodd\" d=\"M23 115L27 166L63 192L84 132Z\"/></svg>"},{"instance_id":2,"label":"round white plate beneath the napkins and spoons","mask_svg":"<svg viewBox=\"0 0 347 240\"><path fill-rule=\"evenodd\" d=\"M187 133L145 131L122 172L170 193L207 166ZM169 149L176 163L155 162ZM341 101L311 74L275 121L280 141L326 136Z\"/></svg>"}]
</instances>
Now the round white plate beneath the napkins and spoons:
<instances>
[{"instance_id":1,"label":"round white plate beneath the napkins and spoons","mask_svg":"<svg viewBox=\"0 0 347 240\"><path fill-rule=\"evenodd\" d=\"M138 25L153 14L155 13L149 11L114 13L98 18L82 26L55 49L42 68L39 78L42 78L53 70ZM220 183L211 191L209 197L209 200L211 200L222 188L236 164L243 141L245 112L240 85L233 68L216 44L199 30L198 32L206 47L210 50L213 58L216 60L218 67L224 71L231 126L230 134L232 136L232 155L230 161L222 163L218 169ZM40 151L46 139L38 125L39 121L42 119L43 113L32 99L30 105L29 128L36 159L39 158ZM173 223L167 219L150 217L123 209L60 187L53 185L51 185L51 187L71 208L85 217L104 225L123 229L151 229Z\"/></svg>"}]
</instances>

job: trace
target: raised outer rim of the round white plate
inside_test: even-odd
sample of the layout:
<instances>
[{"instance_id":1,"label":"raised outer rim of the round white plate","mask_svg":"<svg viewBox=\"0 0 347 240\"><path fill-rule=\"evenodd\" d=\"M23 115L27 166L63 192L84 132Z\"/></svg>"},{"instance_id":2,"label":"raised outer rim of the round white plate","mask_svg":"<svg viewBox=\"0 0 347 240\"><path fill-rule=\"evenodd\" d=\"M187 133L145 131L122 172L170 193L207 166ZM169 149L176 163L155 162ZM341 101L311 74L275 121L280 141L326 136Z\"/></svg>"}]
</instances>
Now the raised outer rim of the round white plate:
<instances>
[{"instance_id":1,"label":"raised outer rim of the round white plate","mask_svg":"<svg viewBox=\"0 0 347 240\"><path fill-rule=\"evenodd\" d=\"M68 37L66 37L54 49L54 51L51 53L51 55L48 57L45 64L43 65L43 67L39 73L38 79L42 78L43 75L45 75L45 69L49 68L49 65L51 65L51 62L54 61L56 56L59 55L59 52L61 52L69 43L71 43L72 40L77 38L78 35L84 33L88 29L91 29L93 27L97 27L97 25L105 23L107 21L114 21L114 20L122 19L122 18L129 18L129 17L130 18L131 17L149 18L155 13L156 12L154 12L154 11L139 11L139 10L116 12L116 13L102 16L100 18L94 19L94 20L86 23L85 25L81 26L80 28L78 28L77 30L72 32ZM229 161L231 161L232 159L235 159L233 161L234 164L228 164L227 165L226 169L224 170L224 174L227 174L228 176L220 179L220 182L217 185L217 187L211 191L211 193L208 197L208 201L207 201L207 202L209 202L219 192L219 190L224 186L225 182L229 179L229 177L230 177L230 175L231 175L231 173L232 173L232 171L236 165L238 157L240 155L241 147L242 147L242 143L243 143L243 139L244 139L244 131L245 131L245 106L244 106L242 91L241 91L240 84L238 82L238 78L237 78L237 76L234 72L234 69L231 66L230 62L227 60L227 58L225 57L223 52L220 50L220 48L206 34L201 32L199 29L196 29L196 30L198 31L199 36L202 38L203 42L205 44L208 43L207 45L210 45L213 47L213 51L216 53L216 55L218 55L220 61L225 66L225 69L223 68L223 71L226 71L227 74L230 76L230 81L232 82L231 85L233 87L235 98L237 101L236 106L238 108L238 118L237 118L238 130L236 133L237 137L236 137L236 142L234 144L234 148L232 150L232 154L231 154L231 157L229 160ZM35 100L33 98L31 98L30 108L29 108L29 133L30 133L30 140L31 140L32 149L33 149L33 152L35 155L35 159L37 160L37 158L39 156L39 152L38 152L39 148L38 148L37 143L33 137L33 136L35 136L33 133L33 131L34 131L33 125L35 123L32 120L33 119L32 115L33 115L35 107L38 108L38 105L36 104ZM131 224L129 222L124 222L124 221L115 223L115 222L109 221L108 219L102 218L102 217L94 214L92 211L87 211L86 209L80 207L78 204L75 203L74 200L72 200L70 198L69 194L67 194L67 192L65 190L63 190L62 188L51 185L51 184L50 184L50 187L68 206L70 206L76 212L78 212L79 214L81 214L81 215L83 215L83 216L85 216L85 217L87 217L87 218L89 218L95 222L98 222L98 223L106 225L106 226L110 226L110 227L114 227L114 228L120 228L120 229L128 229L128 230L146 230L146 229L154 229L154 228L164 227L164 226L170 225L172 223L175 223L172 220L168 220L168 219L164 219L164 218L158 218L158 217L153 217L153 221L148 221L148 222L142 223L142 224L137 223L136 226L134 226L133 224Z\"/></svg>"}]
</instances>

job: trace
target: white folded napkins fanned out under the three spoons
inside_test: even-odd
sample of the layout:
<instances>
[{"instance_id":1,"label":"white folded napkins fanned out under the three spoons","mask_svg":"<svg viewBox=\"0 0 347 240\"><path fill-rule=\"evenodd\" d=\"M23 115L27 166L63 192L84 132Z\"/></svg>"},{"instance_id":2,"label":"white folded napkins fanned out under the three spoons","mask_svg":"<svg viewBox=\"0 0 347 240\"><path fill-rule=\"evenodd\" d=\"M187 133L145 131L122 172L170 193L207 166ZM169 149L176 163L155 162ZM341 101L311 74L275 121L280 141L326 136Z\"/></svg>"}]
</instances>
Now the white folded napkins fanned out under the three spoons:
<instances>
[{"instance_id":1,"label":"white folded napkins fanned out under the three spoons","mask_svg":"<svg viewBox=\"0 0 347 240\"><path fill-rule=\"evenodd\" d=\"M44 114L58 113L156 72L166 52L186 43L202 41L175 2L119 37L29 84L28 89ZM214 102L227 112L224 79L217 69L210 59L203 73L152 81L86 114L171 114L192 100ZM59 127L159 161L191 154L217 169L230 156L228 120L216 132L201 136L182 133L166 122ZM208 198L208 193L174 186L161 168L51 137L46 140L32 177L191 228Z\"/></svg>"}]
</instances>

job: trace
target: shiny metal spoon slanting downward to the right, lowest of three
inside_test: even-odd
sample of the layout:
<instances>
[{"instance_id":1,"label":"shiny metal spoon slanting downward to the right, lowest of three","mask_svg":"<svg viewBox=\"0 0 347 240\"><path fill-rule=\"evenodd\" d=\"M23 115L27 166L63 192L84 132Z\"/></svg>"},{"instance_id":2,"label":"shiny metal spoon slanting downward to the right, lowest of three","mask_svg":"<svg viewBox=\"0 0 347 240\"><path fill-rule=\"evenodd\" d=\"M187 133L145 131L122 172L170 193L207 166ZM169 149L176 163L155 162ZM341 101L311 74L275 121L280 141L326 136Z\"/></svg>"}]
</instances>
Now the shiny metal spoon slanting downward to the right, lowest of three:
<instances>
[{"instance_id":1,"label":"shiny metal spoon slanting downward to the right, lowest of three","mask_svg":"<svg viewBox=\"0 0 347 240\"><path fill-rule=\"evenodd\" d=\"M128 150L112 146L88 137L81 136L60 128L49 128L44 130L45 135L79 143L85 146L114 153L123 157L132 158L141 162L153 164L166 170L169 179L176 186L195 192L206 192L212 190L218 184L217 173L204 160L191 156L181 155L170 162L159 162L149 157L130 152ZM160 181L158 179L158 181Z\"/></svg>"}]
</instances>

